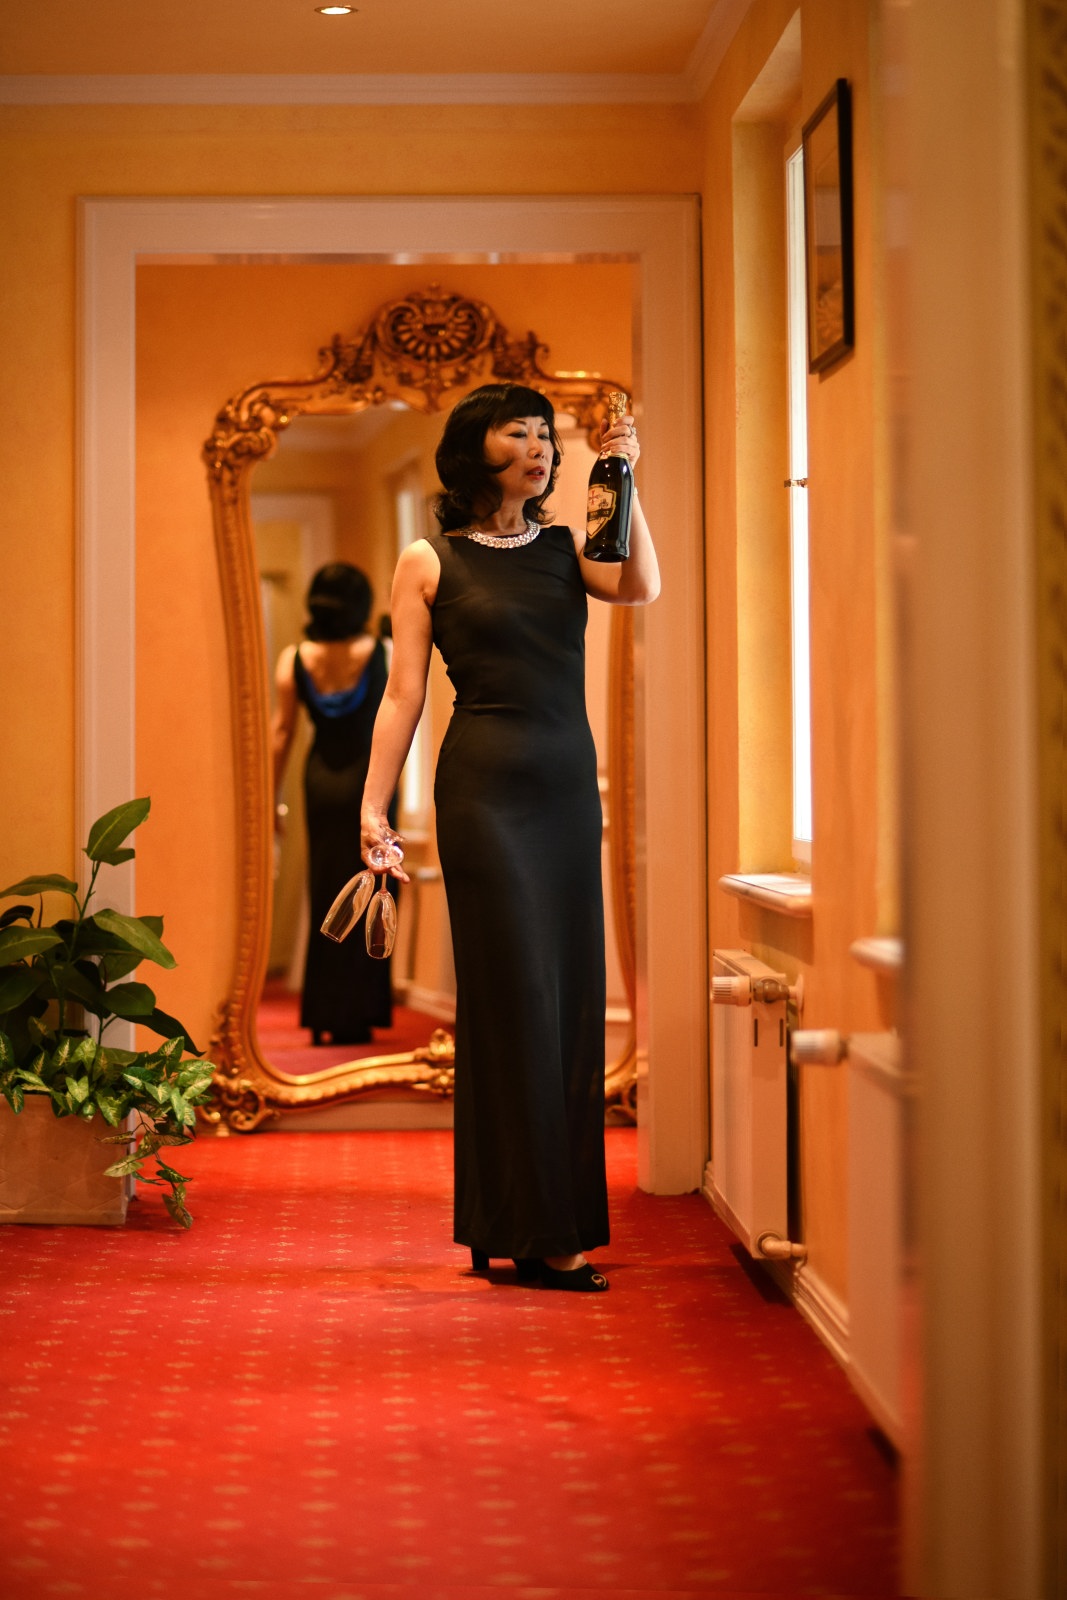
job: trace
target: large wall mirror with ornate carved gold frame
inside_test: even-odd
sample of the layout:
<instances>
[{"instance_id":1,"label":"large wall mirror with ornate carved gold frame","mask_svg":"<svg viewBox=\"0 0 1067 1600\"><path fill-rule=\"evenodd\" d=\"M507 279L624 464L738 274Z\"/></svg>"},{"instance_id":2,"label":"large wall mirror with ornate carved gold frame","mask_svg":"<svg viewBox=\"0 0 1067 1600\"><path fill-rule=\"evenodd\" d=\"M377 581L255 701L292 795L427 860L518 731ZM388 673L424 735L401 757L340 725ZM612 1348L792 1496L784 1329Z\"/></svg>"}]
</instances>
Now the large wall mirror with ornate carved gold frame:
<instances>
[{"instance_id":1,"label":"large wall mirror with ornate carved gold frame","mask_svg":"<svg viewBox=\"0 0 1067 1600\"><path fill-rule=\"evenodd\" d=\"M323 330L328 334L330 330ZM394 1014L358 1045L314 1040L301 1026L310 925L302 814L306 722L274 814L274 662L298 643L312 574L334 560L371 581L370 629L387 637L397 555L430 525L434 451L443 413L478 382L514 379L545 392L565 462L557 520L584 515L584 494L613 387L589 371L552 371L536 333L514 338L483 299L427 283L379 302L352 334L307 352L309 376L256 381L221 405L205 462L211 493L235 755L238 894L229 990L211 1042L216 1118L251 1131L286 1112L366 1096L448 1098L454 976L437 866L432 773L451 709L434 658L427 709L398 794L413 885L400 904ZM609 930L608 1101L633 1106L632 640L625 608L590 608L589 704L605 792ZM387 646L386 646L387 648ZM341 888L341 882L338 882ZM352 934L362 938L362 930ZM611 1003L614 1002L614 1003Z\"/></svg>"}]
</instances>

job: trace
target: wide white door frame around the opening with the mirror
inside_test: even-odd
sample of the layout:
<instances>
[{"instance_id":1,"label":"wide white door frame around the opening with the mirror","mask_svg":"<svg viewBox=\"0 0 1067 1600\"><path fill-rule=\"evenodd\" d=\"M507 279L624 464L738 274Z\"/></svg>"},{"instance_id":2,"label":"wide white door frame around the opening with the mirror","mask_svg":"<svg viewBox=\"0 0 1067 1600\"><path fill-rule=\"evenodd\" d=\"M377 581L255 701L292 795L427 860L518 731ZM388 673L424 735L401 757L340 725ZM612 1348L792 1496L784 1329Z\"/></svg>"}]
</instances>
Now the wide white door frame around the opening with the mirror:
<instances>
[{"instance_id":1,"label":"wide white door frame around the opening with the mirror","mask_svg":"<svg viewBox=\"0 0 1067 1600\"><path fill-rule=\"evenodd\" d=\"M641 480L664 594L637 624L638 1146L653 1192L705 1157L704 538L694 197L82 200L80 826L136 792L134 350L139 261L581 261L638 267ZM664 843L669 840L669 850ZM665 870L667 862L670 872ZM133 909L133 862L114 875Z\"/></svg>"}]
</instances>

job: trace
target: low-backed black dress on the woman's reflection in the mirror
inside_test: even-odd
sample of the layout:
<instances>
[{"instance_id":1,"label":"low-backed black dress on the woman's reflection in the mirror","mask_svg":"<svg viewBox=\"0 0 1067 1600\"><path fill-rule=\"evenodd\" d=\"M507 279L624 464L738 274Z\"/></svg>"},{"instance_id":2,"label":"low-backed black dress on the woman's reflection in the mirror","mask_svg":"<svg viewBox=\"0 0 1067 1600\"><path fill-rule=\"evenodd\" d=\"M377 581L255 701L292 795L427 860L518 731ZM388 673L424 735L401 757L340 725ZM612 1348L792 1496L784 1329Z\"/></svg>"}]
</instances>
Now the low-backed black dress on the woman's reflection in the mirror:
<instances>
[{"instance_id":1,"label":"low-backed black dress on the woman's reflection in the mirror","mask_svg":"<svg viewBox=\"0 0 1067 1600\"><path fill-rule=\"evenodd\" d=\"M298 699L315 726L304 768L310 934L301 1027L331 1034L338 1045L368 1043L371 1027L392 1024L390 962L366 954L362 928L344 944L318 930L341 886L363 866L360 806L374 717L389 675L386 651L379 640L358 683L336 694L318 693L299 650L293 675Z\"/></svg>"}]
</instances>

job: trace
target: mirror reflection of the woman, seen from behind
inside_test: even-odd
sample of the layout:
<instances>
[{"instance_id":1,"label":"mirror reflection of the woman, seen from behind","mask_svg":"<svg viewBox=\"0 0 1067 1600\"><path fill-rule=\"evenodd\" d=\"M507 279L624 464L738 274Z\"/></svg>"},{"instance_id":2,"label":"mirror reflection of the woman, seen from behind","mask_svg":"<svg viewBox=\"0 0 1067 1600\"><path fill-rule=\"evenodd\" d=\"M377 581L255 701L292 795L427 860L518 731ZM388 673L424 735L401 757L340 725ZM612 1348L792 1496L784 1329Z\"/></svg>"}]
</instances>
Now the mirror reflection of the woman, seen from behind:
<instances>
[{"instance_id":1,"label":"mirror reflection of the woman, seen from behind","mask_svg":"<svg viewBox=\"0 0 1067 1600\"><path fill-rule=\"evenodd\" d=\"M334 944L318 933L338 888L360 870L360 806L387 678L382 643L366 627L371 605L358 566L320 568L307 590L306 638L282 651L275 670L275 795L299 706L315 728L304 768L310 936L301 1000L301 1027L315 1045L326 1034L334 1045L366 1045L373 1027L392 1026L390 962L371 960L363 939Z\"/></svg>"}]
</instances>

